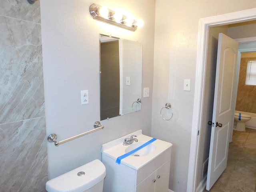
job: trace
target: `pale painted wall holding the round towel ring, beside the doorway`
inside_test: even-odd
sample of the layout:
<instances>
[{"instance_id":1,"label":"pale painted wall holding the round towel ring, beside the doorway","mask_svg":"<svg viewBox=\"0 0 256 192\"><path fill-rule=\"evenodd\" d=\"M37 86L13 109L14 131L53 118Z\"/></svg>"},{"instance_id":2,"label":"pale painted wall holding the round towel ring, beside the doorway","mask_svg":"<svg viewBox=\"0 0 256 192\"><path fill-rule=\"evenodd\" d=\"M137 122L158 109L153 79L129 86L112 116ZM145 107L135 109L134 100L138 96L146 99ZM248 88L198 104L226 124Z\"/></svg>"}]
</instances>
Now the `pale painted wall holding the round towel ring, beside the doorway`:
<instances>
[{"instance_id":1,"label":"pale painted wall holding the round towel ring, beside the doorway","mask_svg":"<svg viewBox=\"0 0 256 192\"><path fill-rule=\"evenodd\" d=\"M221 5L221 6L220 6ZM172 142L169 188L186 191L200 18L254 8L252 0L156 0L152 136ZM191 91L183 91L191 79ZM160 109L172 104L174 117L164 121Z\"/></svg>"}]
</instances>

